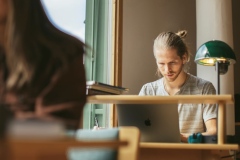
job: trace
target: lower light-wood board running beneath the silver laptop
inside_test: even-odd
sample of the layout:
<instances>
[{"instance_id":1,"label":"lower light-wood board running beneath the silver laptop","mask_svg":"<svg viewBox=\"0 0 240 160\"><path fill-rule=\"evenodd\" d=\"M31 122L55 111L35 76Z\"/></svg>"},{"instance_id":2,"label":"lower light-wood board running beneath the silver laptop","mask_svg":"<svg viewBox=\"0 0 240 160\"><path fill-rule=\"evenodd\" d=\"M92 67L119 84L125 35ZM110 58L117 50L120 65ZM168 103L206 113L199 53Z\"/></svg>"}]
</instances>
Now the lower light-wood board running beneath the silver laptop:
<instances>
[{"instance_id":1,"label":"lower light-wood board running beneath the silver laptop","mask_svg":"<svg viewBox=\"0 0 240 160\"><path fill-rule=\"evenodd\" d=\"M239 150L238 144L183 144L183 143L147 143L141 142L140 148L162 149L198 149L198 150Z\"/></svg>"}]
</instances>

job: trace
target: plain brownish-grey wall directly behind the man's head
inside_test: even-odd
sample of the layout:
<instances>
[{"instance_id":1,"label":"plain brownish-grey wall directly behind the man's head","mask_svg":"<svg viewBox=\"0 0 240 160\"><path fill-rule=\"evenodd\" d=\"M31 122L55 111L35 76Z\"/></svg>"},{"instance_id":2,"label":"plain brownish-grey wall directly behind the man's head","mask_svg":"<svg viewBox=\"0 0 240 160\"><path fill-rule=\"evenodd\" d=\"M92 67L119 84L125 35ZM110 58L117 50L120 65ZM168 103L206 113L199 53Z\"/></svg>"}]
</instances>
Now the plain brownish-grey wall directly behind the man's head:
<instances>
[{"instance_id":1,"label":"plain brownish-grey wall directly behind the man's head","mask_svg":"<svg viewBox=\"0 0 240 160\"><path fill-rule=\"evenodd\" d=\"M122 86L138 94L142 85L158 79L153 41L160 32L186 29L193 56L189 72L196 75L196 6L193 0L123 0Z\"/></svg>"}]
</instances>

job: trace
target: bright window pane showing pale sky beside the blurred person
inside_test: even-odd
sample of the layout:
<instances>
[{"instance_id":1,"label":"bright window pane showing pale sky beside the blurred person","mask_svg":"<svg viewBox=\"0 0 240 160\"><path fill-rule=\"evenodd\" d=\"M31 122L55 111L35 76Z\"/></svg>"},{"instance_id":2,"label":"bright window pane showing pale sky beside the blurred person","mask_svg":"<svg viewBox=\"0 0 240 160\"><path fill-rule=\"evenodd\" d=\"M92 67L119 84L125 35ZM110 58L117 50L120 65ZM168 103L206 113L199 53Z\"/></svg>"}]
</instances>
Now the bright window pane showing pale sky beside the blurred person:
<instances>
[{"instance_id":1,"label":"bright window pane showing pale sky beside the blurred person","mask_svg":"<svg viewBox=\"0 0 240 160\"><path fill-rule=\"evenodd\" d=\"M86 0L42 0L49 19L60 30L85 41Z\"/></svg>"}]
</instances>

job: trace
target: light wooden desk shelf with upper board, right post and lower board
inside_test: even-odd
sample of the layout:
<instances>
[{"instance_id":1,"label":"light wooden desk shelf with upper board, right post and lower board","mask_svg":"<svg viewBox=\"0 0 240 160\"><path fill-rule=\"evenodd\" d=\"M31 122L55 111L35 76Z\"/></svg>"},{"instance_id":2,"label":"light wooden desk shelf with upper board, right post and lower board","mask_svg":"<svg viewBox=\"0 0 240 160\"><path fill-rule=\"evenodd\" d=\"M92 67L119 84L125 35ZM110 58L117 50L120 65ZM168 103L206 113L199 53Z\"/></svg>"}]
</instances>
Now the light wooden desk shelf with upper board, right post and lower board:
<instances>
[{"instance_id":1,"label":"light wooden desk shelf with upper board, right post and lower board","mask_svg":"<svg viewBox=\"0 0 240 160\"><path fill-rule=\"evenodd\" d=\"M139 95L96 95L89 96L88 103L95 104L181 104L204 103L218 104L218 144L176 144L141 143L143 148L165 149L221 149L238 150L237 144L225 144L226 104L233 104L232 95L176 95L176 96L139 96Z\"/></svg>"}]
</instances>

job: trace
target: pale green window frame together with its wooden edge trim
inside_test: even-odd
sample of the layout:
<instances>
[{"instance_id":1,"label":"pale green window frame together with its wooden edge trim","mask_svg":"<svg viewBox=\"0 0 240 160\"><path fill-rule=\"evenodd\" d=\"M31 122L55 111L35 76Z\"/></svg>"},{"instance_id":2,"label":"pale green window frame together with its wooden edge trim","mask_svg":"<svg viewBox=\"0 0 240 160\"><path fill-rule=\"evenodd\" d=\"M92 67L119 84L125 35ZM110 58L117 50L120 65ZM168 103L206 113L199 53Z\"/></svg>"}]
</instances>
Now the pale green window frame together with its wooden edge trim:
<instances>
[{"instance_id":1,"label":"pale green window frame together with its wooden edge trim","mask_svg":"<svg viewBox=\"0 0 240 160\"><path fill-rule=\"evenodd\" d=\"M111 10L106 11L107 5L100 4L104 2L109 3ZM101 6L102 5L102 6ZM96 8L97 7L97 8ZM112 85L121 86L122 83L122 0L87 0L86 1L86 29L85 29L85 43L86 47L86 77L87 80L97 80L100 82L109 83ZM112 12L111 14L107 14ZM110 15L110 17L107 17ZM100 16L99 21L96 16ZM95 17L95 18L94 18ZM99 18L99 17L98 17ZM111 24L106 27L107 21L110 20ZM95 24L94 24L95 23ZM90 26L90 28L88 27ZM99 28L103 29L99 32ZM107 34L109 32L110 34ZM99 37L104 39L99 43L97 41L98 34L102 34ZM109 35L109 37L107 36ZM110 40L110 42L108 41ZM111 46L106 47L106 43ZM88 46L93 46L91 49ZM103 48L101 48L103 47ZM105 47L105 48L104 48ZM100 48L100 49L99 49ZM94 50L98 50L98 55L94 53ZM102 52L101 52L102 51ZM108 52L108 53L107 53ZM98 57L97 57L98 56ZM107 59L110 59L111 65L106 67ZM101 67L100 67L101 66ZM111 69L107 69L107 68ZM110 73L109 73L110 72ZM111 77L109 77L111 76ZM109 78L106 78L109 77ZM109 106L107 108L107 106ZM107 109L106 109L107 108ZM109 127L117 126L117 114L115 105L100 105L100 104L86 104L83 111L83 128L91 128L94 125L94 117L100 116L100 125L105 126L107 116L109 114ZM98 117L99 118L99 117Z\"/></svg>"}]
</instances>

